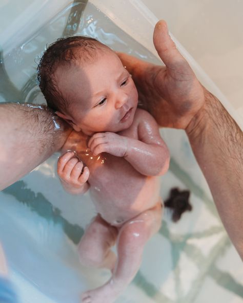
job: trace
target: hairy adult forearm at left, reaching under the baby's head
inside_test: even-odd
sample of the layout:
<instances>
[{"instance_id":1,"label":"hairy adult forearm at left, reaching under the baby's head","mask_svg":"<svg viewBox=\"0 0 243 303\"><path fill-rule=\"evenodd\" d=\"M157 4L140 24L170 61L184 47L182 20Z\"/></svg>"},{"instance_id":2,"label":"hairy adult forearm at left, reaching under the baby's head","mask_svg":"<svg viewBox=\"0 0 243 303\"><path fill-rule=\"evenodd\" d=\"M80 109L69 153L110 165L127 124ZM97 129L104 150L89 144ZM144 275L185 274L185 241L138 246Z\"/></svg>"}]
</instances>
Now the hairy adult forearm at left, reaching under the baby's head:
<instances>
[{"instance_id":1,"label":"hairy adult forearm at left, reaching under the baby's head","mask_svg":"<svg viewBox=\"0 0 243 303\"><path fill-rule=\"evenodd\" d=\"M53 112L31 104L0 104L0 126L0 190L60 149L71 131Z\"/></svg>"}]
</instances>

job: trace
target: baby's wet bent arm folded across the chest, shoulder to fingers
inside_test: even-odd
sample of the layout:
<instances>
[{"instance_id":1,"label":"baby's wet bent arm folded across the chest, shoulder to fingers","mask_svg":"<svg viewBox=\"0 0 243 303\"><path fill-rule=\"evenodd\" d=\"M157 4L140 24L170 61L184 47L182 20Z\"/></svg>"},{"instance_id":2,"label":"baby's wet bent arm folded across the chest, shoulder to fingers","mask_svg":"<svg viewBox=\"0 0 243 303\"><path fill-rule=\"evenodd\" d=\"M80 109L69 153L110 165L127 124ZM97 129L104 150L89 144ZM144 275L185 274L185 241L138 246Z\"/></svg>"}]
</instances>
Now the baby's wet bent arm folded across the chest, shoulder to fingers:
<instances>
[{"instance_id":1,"label":"baby's wet bent arm folded across the chest, shoulder to fingers","mask_svg":"<svg viewBox=\"0 0 243 303\"><path fill-rule=\"evenodd\" d=\"M146 111L138 109L138 140L115 133L97 133L88 146L97 155L109 153L124 157L137 171L146 176L164 175L169 168L169 150L161 139L154 118Z\"/></svg>"}]
</instances>

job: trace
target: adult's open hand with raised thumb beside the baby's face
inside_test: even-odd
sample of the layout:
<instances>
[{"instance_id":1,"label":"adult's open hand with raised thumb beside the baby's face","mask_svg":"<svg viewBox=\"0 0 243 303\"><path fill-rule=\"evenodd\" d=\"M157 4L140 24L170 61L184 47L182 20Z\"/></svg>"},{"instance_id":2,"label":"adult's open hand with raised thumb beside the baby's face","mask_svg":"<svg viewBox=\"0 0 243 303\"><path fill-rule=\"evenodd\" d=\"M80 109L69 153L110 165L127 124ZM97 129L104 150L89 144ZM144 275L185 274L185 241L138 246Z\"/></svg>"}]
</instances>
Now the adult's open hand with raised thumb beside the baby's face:
<instances>
[{"instance_id":1,"label":"adult's open hand with raised thumb beside the baby's face","mask_svg":"<svg viewBox=\"0 0 243 303\"><path fill-rule=\"evenodd\" d=\"M186 129L205 103L205 89L176 49L164 20L156 24L153 41L165 66L155 66L124 53L117 54L132 74L139 101L157 123Z\"/></svg>"}]
</instances>

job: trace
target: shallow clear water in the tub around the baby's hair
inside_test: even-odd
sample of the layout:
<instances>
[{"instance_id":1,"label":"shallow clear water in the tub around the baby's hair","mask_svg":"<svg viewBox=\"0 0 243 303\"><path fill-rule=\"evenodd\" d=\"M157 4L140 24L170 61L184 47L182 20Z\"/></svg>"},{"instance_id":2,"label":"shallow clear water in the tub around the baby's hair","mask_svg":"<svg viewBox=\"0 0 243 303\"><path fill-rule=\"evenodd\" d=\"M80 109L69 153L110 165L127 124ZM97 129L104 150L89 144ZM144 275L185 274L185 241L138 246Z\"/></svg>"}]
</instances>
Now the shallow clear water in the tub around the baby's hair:
<instances>
[{"instance_id":1,"label":"shallow clear water in the tub around the baby's hair","mask_svg":"<svg viewBox=\"0 0 243 303\"><path fill-rule=\"evenodd\" d=\"M37 64L46 46L63 36L92 36L112 49L158 63L143 46L137 45L122 30L114 27L102 12L92 4L87 4L87 1L75 1L67 6L43 28L36 30L27 41L23 41L21 46L15 47L9 54L4 54L4 57L0 54L2 101L45 103L36 79Z\"/></svg>"}]
</instances>

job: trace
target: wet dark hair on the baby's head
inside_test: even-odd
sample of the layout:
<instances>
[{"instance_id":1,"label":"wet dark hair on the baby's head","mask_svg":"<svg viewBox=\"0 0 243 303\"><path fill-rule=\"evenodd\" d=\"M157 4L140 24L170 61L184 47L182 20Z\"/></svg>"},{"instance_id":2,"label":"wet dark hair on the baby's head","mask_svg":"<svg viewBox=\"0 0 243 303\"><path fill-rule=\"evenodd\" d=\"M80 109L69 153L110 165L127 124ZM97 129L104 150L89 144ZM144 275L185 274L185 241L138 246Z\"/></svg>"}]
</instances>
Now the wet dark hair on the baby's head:
<instances>
[{"instance_id":1,"label":"wet dark hair on the baby's head","mask_svg":"<svg viewBox=\"0 0 243 303\"><path fill-rule=\"evenodd\" d=\"M81 53L78 52L80 48ZM69 112L70 100L65 99L60 92L54 76L57 67L68 68L80 62L94 60L98 50L107 49L109 47L98 40L85 36L59 38L51 44L37 67L39 88L46 98L47 105L54 111Z\"/></svg>"}]
</instances>

